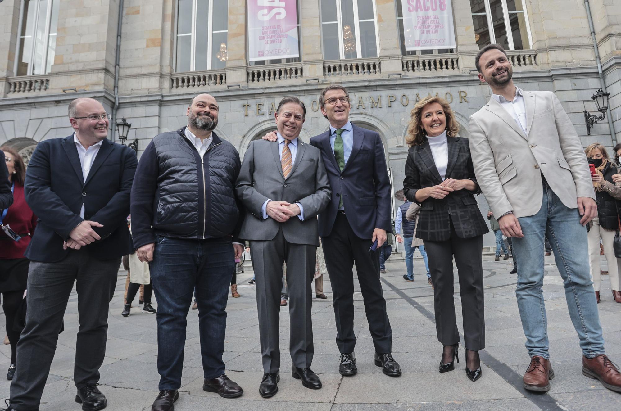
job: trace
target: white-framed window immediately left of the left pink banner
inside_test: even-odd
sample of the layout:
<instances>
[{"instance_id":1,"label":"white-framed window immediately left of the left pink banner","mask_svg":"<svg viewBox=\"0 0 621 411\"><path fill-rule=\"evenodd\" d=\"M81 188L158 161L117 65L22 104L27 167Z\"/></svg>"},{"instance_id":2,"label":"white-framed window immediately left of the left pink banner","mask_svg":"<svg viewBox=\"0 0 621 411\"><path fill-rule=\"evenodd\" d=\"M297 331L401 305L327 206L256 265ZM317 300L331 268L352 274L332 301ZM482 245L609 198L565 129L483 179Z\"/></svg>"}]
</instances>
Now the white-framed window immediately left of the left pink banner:
<instances>
[{"instance_id":1,"label":"white-framed window immediately left of the left pink banner","mask_svg":"<svg viewBox=\"0 0 621 411\"><path fill-rule=\"evenodd\" d=\"M211 70L226 66L229 2L179 0L176 15L175 70Z\"/></svg>"}]
</instances>

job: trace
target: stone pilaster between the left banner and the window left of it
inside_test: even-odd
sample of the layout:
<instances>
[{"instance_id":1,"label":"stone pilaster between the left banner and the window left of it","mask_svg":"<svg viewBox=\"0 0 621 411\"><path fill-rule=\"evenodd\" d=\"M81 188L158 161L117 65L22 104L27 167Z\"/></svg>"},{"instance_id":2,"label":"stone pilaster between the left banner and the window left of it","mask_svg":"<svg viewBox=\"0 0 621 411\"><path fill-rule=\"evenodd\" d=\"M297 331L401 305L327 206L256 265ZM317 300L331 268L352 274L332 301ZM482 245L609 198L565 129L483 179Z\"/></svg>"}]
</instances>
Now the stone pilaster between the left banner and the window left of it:
<instances>
[{"instance_id":1,"label":"stone pilaster between the left banner and the window left of it","mask_svg":"<svg viewBox=\"0 0 621 411\"><path fill-rule=\"evenodd\" d=\"M247 84L246 78L246 1L229 0L229 44L227 45L227 84Z\"/></svg>"}]
</instances>

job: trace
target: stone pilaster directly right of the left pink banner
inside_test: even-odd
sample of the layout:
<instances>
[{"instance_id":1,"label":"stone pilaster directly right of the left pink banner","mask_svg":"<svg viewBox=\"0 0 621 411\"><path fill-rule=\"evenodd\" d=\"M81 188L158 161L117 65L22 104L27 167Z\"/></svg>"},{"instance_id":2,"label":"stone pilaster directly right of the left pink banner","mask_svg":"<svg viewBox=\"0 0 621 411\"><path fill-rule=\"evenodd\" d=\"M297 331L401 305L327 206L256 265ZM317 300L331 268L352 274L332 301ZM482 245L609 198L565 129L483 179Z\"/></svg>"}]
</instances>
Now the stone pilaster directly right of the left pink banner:
<instances>
[{"instance_id":1,"label":"stone pilaster directly right of the left pink banner","mask_svg":"<svg viewBox=\"0 0 621 411\"><path fill-rule=\"evenodd\" d=\"M302 44L302 73L305 78L324 79L324 56L321 53L321 19L319 0L299 2Z\"/></svg>"}]
</instances>

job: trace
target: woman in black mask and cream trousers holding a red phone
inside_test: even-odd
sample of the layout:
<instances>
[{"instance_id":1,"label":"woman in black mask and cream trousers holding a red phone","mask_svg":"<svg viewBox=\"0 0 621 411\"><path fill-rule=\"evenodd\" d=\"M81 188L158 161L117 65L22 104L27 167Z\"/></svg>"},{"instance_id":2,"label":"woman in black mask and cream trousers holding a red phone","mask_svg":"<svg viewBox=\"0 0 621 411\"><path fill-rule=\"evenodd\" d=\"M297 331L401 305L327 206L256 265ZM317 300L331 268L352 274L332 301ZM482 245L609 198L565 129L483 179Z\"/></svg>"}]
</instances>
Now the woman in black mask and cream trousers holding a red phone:
<instances>
[{"instance_id":1,"label":"woman in black mask and cream trousers holding a red phone","mask_svg":"<svg viewBox=\"0 0 621 411\"><path fill-rule=\"evenodd\" d=\"M610 274L610 288L616 302L621 303L619 292L619 264L615 257L612 243L615 233L619 228L617 201L621 199L621 182L615 185L612 176L617 173L617 166L610 161L610 157L603 145L594 143L584 149L589 165L595 166L595 174L592 175L593 189L597 201L597 217L589 225L587 238L589 240L589 266L593 278L593 288L599 304L599 291L601 288L601 271L599 268L599 243L604 245L604 256L608 263Z\"/></svg>"}]
</instances>

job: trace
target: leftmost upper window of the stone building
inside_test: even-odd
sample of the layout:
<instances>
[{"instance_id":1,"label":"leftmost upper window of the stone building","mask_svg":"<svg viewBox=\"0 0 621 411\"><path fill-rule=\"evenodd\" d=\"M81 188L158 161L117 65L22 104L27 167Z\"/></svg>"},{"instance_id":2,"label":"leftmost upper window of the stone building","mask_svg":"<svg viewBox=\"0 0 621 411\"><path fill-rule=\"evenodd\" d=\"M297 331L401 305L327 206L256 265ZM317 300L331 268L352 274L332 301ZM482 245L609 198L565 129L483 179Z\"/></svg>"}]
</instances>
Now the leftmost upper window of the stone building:
<instances>
[{"instance_id":1,"label":"leftmost upper window of the stone building","mask_svg":"<svg viewBox=\"0 0 621 411\"><path fill-rule=\"evenodd\" d=\"M23 4L14 71L17 76L44 75L54 62L60 0L25 0Z\"/></svg>"}]
</instances>

